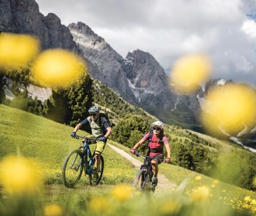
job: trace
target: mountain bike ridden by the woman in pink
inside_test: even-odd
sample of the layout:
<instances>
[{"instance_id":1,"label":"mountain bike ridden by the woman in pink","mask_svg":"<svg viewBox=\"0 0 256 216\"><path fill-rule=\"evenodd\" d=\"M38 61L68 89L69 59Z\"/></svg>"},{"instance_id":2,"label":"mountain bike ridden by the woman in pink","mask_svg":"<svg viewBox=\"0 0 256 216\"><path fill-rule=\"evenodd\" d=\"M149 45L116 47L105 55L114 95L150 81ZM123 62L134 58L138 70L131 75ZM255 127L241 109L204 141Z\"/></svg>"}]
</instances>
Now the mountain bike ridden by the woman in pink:
<instances>
[{"instance_id":1,"label":"mountain bike ridden by the woman in pink","mask_svg":"<svg viewBox=\"0 0 256 216\"><path fill-rule=\"evenodd\" d=\"M134 180L134 188L139 189L139 191L153 191L155 192L155 186L152 185L153 170L151 165L151 160L158 160L162 162L162 159L154 159L153 157L148 157L140 153L135 153L135 156L144 158L144 162L140 167Z\"/></svg>"}]
</instances>

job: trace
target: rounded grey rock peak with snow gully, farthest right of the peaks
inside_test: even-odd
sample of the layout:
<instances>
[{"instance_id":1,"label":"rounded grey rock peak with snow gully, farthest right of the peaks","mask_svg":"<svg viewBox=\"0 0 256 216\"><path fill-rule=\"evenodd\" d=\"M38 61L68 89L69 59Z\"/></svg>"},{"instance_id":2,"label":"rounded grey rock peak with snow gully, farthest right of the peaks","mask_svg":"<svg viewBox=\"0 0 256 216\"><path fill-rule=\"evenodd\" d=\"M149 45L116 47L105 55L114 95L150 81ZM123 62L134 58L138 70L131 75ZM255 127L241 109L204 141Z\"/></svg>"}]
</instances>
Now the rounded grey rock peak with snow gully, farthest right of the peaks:
<instances>
[{"instance_id":1,"label":"rounded grey rock peak with snow gully, farthest right of the peaks","mask_svg":"<svg viewBox=\"0 0 256 216\"><path fill-rule=\"evenodd\" d=\"M142 104L155 106L159 101L160 94L168 93L166 74L160 64L148 52L140 50L129 52L123 67L130 88L137 101ZM164 106L164 108L169 107L166 103Z\"/></svg>"}]
</instances>

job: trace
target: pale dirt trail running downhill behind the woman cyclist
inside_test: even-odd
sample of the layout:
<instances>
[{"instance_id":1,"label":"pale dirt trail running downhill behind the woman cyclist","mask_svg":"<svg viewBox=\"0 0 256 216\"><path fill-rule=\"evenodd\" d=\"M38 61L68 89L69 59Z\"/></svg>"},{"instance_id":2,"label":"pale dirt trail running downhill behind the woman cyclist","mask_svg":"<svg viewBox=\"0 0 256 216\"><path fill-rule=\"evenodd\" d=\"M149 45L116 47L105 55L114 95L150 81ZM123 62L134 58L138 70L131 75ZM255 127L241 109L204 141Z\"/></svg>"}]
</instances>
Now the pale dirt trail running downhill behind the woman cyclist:
<instances>
[{"instance_id":1,"label":"pale dirt trail running downhill behind the woman cyclist","mask_svg":"<svg viewBox=\"0 0 256 216\"><path fill-rule=\"evenodd\" d=\"M134 157L130 156L129 153L125 152L122 149L119 149L116 146L113 146L111 144L108 144L108 146L111 147L111 149L116 151L118 154L121 154L121 156L123 156L127 160L129 160L132 163L132 165L134 165L134 167L139 170L140 165L142 164L142 162L140 162L139 160L137 160ZM161 171L161 167L160 167L160 171ZM164 175L161 175L160 173L158 173L158 185L156 186L155 193L169 192L173 188L177 188L177 185L171 183L168 180L168 178L166 178Z\"/></svg>"}]
</instances>

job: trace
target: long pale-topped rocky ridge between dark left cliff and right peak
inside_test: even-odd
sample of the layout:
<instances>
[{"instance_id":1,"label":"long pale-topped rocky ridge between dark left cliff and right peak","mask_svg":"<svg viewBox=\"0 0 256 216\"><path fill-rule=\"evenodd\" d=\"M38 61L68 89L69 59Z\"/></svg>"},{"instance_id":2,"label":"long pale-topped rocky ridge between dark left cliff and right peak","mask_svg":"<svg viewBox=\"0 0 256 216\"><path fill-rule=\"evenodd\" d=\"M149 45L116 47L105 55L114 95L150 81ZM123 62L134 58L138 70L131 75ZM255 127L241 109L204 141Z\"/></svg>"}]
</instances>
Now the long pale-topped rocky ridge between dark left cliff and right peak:
<instances>
[{"instance_id":1,"label":"long pale-topped rocky ridge between dark left cliff and right peak","mask_svg":"<svg viewBox=\"0 0 256 216\"><path fill-rule=\"evenodd\" d=\"M113 88L129 102L135 102L134 94L128 85L126 72L122 69L124 59L84 23L71 23L69 30L79 48L82 49L83 56L98 68L98 71L91 71L92 77Z\"/></svg>"}]
</instances>

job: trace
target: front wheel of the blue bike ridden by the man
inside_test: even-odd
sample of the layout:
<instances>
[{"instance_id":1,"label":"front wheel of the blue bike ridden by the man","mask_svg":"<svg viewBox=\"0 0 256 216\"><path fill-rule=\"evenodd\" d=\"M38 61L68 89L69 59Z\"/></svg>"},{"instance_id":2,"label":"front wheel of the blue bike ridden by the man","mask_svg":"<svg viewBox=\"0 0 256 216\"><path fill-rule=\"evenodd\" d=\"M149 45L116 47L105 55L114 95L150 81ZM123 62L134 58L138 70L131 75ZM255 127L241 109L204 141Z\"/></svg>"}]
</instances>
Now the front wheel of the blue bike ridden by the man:
<instances>
[{"instance_id":1,"label":"front wheel of the blue bike ridden by the man","mask_svg":"<svg viewBox=\"0 0 256 216\"><path fill-rule=\"evenodd\" d=\"M63 183L67 188L73 188L79 182L83 172L83 156L80 150L69 152L62 167Z\"/></svg>"}]
</instances>

